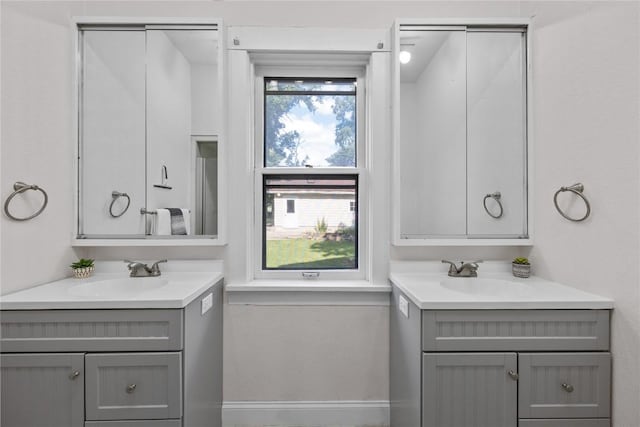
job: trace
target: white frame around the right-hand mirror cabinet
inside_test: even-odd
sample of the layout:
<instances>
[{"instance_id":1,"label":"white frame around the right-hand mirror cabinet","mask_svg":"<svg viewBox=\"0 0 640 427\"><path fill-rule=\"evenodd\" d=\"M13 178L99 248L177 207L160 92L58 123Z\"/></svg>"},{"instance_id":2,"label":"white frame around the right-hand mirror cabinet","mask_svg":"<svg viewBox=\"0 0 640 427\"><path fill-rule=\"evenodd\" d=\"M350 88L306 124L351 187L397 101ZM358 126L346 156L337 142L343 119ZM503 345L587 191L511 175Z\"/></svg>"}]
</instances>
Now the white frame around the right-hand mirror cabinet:
<instances>
[{"instance_id":1,"label":"white frame around the right-hand mirror cabinet","mask_svg":"<svg viewBox=\"0 0 640 427\"><path fill-rule=\"evenodd\" d=\"M527 31L526 58L527 58L527 116L526 122L533 123L533 90L531 67L531 20L528 18L456 18L456 19L396 19L392 29L392 60L391 60L391 103L392 103L392 165L391 165L391 243L394 246L531 246L533 245L533 132L532 126L527 126L527 238L474 238L461 236L459 238L422 238L403 239L400 232L401 221L401 185L400 185L400 61L397 59L400 52L400 26L487 26L487 27L524 27Z\"/></svg>"}]
</instances>

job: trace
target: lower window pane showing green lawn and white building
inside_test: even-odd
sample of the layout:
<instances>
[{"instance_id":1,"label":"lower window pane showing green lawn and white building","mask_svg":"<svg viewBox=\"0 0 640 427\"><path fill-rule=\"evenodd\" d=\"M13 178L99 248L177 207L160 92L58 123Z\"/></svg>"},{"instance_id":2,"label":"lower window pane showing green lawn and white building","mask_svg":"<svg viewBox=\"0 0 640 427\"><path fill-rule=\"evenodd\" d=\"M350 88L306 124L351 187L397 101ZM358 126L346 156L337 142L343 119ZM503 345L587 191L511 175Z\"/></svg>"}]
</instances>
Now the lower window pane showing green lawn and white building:
<instances>
[{"instance_id":1,"label":"lower window pane showing green lawn and white building","mask_svg":"<svg viewBox=\"0 0 640 427\"><path fill-rule=\"evenodd\" d=\"M357 175L269 175L263 188L263 269L358 268Z\"/></svg>"}]
</instances>

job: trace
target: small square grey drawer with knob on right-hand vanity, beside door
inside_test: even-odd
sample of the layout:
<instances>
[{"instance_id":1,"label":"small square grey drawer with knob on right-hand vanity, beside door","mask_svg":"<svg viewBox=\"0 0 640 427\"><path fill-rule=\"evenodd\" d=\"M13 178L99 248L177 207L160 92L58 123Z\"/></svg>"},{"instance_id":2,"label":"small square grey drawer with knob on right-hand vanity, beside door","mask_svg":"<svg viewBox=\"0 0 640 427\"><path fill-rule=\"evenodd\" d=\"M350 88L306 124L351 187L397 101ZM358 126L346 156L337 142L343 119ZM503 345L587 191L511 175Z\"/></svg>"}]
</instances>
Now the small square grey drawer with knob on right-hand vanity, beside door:
<instances>
[{"instance_id":1,"label":"small square grey drawer with knob on right-hand vanity, beside door","mask_svg":"<svg viewBox=\"0 0 640 427\"><path fill-rule=\"evenodd\" d=\"M521 353L521 418L608 418L610 353Z\"/></svg>"}]
</instances>

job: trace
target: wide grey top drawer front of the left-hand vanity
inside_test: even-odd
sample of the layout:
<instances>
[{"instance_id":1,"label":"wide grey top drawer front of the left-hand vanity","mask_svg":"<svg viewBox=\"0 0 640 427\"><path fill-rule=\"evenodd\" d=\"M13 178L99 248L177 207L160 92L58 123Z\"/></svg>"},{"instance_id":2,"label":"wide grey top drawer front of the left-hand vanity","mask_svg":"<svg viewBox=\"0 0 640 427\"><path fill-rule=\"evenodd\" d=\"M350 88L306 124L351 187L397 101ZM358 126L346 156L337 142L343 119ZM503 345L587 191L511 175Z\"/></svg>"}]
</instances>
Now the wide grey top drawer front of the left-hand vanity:
<instances>
[{"instance_id":1,"label":"wide grey top drawer front of the left-hand vanity","mask_svg":"<svg viewBox=\"0 0 640 427\"><path fill-rule=\"evenodd\" d=\"M2 311L3 353L182 349L182 310Z\"/></svg>"}]
</instances>

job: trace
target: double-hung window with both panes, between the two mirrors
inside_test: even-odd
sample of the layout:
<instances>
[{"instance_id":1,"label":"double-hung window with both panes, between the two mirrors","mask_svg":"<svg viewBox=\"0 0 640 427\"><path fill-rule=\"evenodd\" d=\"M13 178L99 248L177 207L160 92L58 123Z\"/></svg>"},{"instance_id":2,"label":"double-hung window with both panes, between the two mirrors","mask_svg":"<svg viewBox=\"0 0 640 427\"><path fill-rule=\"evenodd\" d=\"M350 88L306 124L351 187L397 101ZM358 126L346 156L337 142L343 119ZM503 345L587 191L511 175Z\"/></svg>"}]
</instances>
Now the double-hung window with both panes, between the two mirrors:
<instances>
[{"instance_id":1,"label":"double-hung window with both panes, between the two mirrors","mask_svg":"<svg viewBox=\"0 0 640 427\"><path fill-rule=\"evenodd\" d=\"M260 77L262 272L360 274L359 77Z\"/></svg>"}]
</instances>

